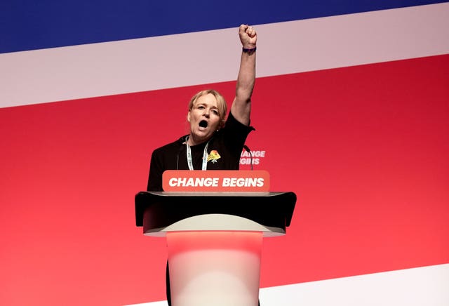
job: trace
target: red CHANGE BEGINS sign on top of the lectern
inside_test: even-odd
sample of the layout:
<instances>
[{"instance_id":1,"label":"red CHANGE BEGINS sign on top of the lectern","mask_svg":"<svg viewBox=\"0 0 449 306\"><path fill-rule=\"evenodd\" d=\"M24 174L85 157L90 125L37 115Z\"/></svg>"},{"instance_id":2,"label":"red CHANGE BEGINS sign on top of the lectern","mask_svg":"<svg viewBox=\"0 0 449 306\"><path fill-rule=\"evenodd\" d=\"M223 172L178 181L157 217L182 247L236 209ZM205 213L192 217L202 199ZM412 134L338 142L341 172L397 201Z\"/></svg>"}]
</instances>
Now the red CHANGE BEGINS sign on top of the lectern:
<instances>
[{"instance_id":1,"label":"red CHANGE BEGINS sign on top of the lectern","mask_svg":"<svg viewBox=\"0 0 449 306\"><path fill-rule=\"evenodd\" d=\"M269 192L269 173L253 170L168 170L162 174L166 192Z\"/></svg>"}]
</instances>

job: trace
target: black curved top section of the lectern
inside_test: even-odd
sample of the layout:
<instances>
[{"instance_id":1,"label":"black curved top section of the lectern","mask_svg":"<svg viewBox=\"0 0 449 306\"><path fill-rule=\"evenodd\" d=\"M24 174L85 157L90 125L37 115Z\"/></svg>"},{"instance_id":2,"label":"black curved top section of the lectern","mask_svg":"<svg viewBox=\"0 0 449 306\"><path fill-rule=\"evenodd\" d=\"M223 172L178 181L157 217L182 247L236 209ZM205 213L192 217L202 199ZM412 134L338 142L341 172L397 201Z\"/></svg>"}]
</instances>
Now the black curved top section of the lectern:
<instances>
[{"instance_id":1,"label":"black curved top section of the lectern","mask_svg":"<svg viewBox=\"0 0 449 306\"><path fill-rule=\"evenodd\" d=\"M224 214L285 230L295 203L293 192L139 192L135 222L146 231L195 215Z\"/></svg>"}]
</instances>

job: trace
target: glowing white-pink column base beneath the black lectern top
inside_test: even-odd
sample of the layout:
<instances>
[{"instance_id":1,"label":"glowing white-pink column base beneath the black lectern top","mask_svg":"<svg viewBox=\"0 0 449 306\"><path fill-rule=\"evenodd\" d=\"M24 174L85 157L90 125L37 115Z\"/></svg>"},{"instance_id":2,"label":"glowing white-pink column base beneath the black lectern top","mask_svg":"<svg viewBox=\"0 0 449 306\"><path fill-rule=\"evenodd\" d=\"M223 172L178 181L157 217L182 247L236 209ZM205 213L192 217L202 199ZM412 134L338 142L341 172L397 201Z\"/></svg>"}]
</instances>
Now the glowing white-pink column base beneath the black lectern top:
<instances>
[{"instance_id":1,"label":"glowing white-pink column base beneath the black lectern top","mask_svg":"<svg viewBox=\"0 0 449 306\"><path fill-rule=\"evenodd\" d=\"M262 232L167 232L173 306L257 306Z\"/></svg>"}]
</instances>

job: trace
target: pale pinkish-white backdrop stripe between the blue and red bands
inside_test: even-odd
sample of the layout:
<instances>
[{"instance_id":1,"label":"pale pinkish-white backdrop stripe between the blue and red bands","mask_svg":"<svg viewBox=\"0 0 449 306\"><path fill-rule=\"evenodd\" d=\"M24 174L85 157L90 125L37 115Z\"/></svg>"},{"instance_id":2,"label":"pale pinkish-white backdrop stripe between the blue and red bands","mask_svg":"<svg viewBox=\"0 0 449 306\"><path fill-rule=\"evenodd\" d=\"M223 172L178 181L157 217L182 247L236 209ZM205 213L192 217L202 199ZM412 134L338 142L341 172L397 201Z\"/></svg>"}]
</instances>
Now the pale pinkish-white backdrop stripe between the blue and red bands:
<instances>
[{"instance_id":1,"label":"pale pinkish-white backdrop stripe between the blue and red bands","mask_svg":"<svg viewBox=\"0 0 449 306\"><path fill-rule=\"evenodd\" d=\"M449 3L257 26L257 76L449 53ZM0 54L0 107L236 79L236 29ZM235 63L235 65L223 65Z\"/></svg>"}]
</instances>

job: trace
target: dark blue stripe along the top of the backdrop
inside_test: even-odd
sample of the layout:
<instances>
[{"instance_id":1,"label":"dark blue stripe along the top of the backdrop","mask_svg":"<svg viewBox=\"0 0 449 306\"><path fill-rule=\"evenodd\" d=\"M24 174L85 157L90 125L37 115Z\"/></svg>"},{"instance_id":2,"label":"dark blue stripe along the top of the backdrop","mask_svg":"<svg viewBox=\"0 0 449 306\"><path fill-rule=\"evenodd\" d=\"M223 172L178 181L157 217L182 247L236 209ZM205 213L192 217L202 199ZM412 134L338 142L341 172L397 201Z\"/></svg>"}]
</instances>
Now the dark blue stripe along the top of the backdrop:
<instances>
[{"instance_id":1,"label":"dark blue stripe along the top of the backdrop","mask_svg":"<svg viewBox=\"0 0 449 306\"><path fill-rule=\"evenodd\" d=\"M260 25L446 1L3 0L0 53Z\"/></svg>"}]
</instances>

